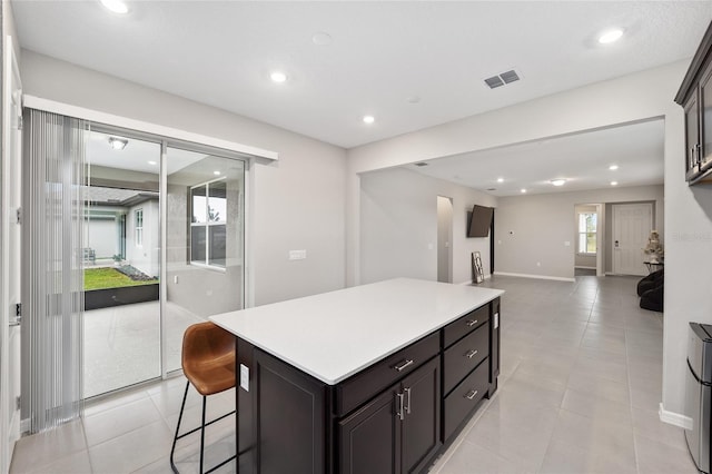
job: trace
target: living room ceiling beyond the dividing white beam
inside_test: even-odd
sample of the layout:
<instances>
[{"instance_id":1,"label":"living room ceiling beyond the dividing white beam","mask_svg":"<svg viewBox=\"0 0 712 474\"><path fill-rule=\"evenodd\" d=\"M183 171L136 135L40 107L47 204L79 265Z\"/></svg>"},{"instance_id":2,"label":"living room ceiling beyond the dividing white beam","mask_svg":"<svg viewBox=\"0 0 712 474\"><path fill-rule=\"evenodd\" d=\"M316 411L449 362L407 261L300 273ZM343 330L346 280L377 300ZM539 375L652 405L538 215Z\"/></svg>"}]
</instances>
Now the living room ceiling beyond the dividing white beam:
<instances>
[{"instance_id":1,"label":"living room ceiling beyond the dividing white beam","mask_svg":"<svg viewBox=\"0 0 712 474\"><path fill-rule=\"evenodd\" d=\"M406 168L493 196L663 182L662 119L462 154ZM611 170L609 167L616 166ZM497 181L502 179L502 182ZM565 179L563 186L552 180Z\"/></svg>"}]
</instances>

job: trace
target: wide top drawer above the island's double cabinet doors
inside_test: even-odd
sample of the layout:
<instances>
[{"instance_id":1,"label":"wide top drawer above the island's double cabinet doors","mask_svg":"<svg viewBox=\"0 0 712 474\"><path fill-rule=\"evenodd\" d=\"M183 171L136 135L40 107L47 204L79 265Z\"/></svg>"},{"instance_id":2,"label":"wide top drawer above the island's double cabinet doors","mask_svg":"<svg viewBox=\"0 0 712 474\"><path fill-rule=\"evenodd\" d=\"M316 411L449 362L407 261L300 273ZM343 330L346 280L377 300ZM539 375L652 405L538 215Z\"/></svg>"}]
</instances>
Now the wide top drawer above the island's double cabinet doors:
<instances>
[{"instance_id":1,"label":"wide top drawer above the island's double cabinet doors","mask_svg":"<svg viewBox=\"0 0 712 474\"><path fill-rule=\"evenodd\" d=\"M377 362L336 386L336 414L343 416L418 368L439 352L436 332Z\"/></svg>"}]
</instances>

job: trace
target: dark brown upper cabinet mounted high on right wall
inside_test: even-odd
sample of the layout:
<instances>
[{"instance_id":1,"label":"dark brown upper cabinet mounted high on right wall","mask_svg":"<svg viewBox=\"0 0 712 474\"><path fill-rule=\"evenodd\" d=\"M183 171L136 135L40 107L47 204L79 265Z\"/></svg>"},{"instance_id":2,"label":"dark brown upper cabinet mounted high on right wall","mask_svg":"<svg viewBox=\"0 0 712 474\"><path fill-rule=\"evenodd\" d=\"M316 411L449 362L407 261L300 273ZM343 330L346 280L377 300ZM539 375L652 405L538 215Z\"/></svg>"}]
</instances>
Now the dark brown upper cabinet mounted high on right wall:
<instances>
[{"instance_id":1,"label":"dark brown upper cabinet mounted high on right wall","mask_svg":"<svg viewBox=\"0 0 712 474\"><path fill-rule=\"evenodd\" d=\"M685 179L712 182L712 23L692 58L675 102L685 110Z\"/></svg>"}]
</instances>

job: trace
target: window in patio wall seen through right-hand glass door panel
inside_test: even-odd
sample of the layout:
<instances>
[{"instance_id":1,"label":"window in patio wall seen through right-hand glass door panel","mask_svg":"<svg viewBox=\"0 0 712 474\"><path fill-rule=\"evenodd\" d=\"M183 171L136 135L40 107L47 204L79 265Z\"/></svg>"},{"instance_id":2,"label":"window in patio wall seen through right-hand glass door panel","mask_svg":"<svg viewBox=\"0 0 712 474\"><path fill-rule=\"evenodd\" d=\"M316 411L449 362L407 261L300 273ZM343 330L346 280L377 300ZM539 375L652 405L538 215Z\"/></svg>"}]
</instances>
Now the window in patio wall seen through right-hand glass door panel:
<instances>
[{"instance_id":1,"label":"window in patio wall seen through right-hand glass door panel","mask_svg":"<svg viewBox=\"0 0 712 474\"><path fill-rule=\"evenodd\" d=\"M190 263L225 268L227 184L225 178L190 188Z\"/></svg>"}]
</instances>

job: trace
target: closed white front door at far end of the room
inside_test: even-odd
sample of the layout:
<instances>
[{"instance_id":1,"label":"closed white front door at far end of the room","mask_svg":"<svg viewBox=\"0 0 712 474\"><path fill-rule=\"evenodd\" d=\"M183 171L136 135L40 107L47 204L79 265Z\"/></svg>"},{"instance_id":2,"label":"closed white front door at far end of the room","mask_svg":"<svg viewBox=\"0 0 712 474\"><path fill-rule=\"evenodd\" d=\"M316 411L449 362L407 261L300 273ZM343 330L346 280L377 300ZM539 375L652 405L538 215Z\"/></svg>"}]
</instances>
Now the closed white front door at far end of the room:
<instances>
[{"instance_id":1,"label":"closed white front door at far end of the room","mask_svg":"<svg viewBox=\"0 0 712 474\"><path fill-rule=\"evenodd\" d=\"M653 206L645 204L613 205L613 273L647 275L643 248L653 228Z\"/></svg>"}]
</instances>

